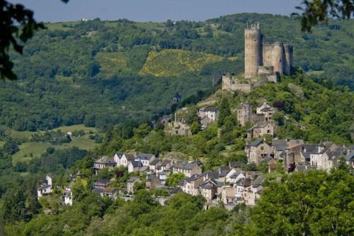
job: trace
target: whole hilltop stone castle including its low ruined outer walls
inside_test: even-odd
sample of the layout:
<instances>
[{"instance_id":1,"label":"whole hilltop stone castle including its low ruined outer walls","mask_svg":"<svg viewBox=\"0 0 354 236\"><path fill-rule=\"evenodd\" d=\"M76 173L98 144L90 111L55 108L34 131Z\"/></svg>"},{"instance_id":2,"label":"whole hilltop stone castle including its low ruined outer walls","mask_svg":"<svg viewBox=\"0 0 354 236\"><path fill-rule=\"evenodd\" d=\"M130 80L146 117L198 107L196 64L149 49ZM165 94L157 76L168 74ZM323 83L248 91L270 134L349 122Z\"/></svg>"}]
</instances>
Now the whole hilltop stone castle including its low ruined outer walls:
<instances>
[{"instance_id":1,"label":"whole hilltop stone castle including its low ruined outer walls","mask_svg":"<svg viewBox=\"0 0 354 236\"><path fill-rule=\"evenodd\" d=\"M278 78L292 72L292 45L265 43L259 23L247 23L244 30L244 78L224 74L222 89L249 92L265 82L278 82Z\"/></svg>"}]
</instances>

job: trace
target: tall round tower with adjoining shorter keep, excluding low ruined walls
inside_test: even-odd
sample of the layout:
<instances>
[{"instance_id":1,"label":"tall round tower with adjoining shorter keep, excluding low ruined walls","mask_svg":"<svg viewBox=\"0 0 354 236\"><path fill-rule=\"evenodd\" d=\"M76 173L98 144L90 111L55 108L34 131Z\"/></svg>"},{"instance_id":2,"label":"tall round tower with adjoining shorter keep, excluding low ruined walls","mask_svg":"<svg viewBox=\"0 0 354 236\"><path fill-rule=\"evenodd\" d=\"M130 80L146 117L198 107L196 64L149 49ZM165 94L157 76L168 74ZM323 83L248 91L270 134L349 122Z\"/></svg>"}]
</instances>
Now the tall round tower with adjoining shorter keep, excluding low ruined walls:
<instances>
[{"instance_id":1,"label":"tall round tower with adjoining shorter keep, excluding low ruined walls","mask_svg":"<svg viewBox=\"0 0 354 236\"><path fill-rule=\"evenodd\" d=\"M247 24L244 31L245 78L291 74L292 45L264 43L259 23Z\"/></svg>"}]
</instances>

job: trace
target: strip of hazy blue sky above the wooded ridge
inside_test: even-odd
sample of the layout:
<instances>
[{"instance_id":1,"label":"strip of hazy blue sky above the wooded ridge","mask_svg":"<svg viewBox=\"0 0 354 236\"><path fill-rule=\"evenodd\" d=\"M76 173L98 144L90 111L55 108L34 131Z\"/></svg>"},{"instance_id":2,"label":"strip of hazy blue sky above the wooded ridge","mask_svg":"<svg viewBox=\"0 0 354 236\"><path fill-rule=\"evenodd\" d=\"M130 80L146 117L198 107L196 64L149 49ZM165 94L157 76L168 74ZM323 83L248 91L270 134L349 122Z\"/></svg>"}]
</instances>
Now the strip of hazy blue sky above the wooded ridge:
<instances>
[{"instance_id":1,"label":"strip of hazy blue sky above the wooded ridge","mask_svg":"<svg viewBox=\"0 0 354 236\"><path fill-rule=\"evenodd\" d=\"M35 11L44 22L101 18L164 22L204 21L232 13L273 13L289 16L301 0L8 0Z\"/></svg>"}]
</instances>

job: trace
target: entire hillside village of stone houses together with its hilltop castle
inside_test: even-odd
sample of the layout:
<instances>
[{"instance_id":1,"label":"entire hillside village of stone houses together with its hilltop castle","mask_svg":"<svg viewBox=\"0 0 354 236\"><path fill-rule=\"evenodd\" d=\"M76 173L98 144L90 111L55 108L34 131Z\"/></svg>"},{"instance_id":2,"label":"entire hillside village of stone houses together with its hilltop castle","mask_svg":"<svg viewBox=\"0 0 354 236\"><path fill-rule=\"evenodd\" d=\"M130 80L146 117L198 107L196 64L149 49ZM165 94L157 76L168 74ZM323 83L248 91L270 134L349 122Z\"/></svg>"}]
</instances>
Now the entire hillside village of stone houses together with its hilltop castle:
<instances>
[{"instance_id":1,"label":"entire hillside village of stone houses together with its hilltop castle","mask_svg":"<svg viewBox=\"0 0 354 236\"><path fill-rule=\"evenodd\" d=\"M261 38L258 23L246 27L244 78L240 80L239 77L224 74L222 90L249 93L251 89L265 82L278 82L282 74L291 74L292 47L282 43L263 45ZM230 78L236 80L232 81ZM180 94L176 93L173 103L181 103ZM95 174L108 169L115 171L115 177L94 181L92 191L101 196L130 201L137 189L162 189L168 194L155 196L156 201L162 205L169 196L182 191L192 196L202 195L206 200L205 208L222 203L225 208L232 209L239 203L253 206L261 196L266 174L247 167L252 164L265 165L268 173L284 169L290 174L310 169L329 171L343 160L354 168L354 146L340 147L333 142L307 143L304 140L279 139L277 125L273 120L277 108L267 101L256 107L244 101L232 108L232 111L236 114L238 125L247 127L244 147L246 167L241 162L231 161L215 171L203 171L205 163L197 157L183 160L143 152L117 152L114 156L102 156L93 162ZM188 121L190 117L195 118L192 123ZM198 130L204 130L217 122L218 118L217 103L210 103L193 109L183 107L173 115L161 116L159 123L164 125L166 135L184 136L194 135L193 125L198 126ZM115 179L125 171L129 174L129 179L125 186L116 188ZM178 175L181 176L178 183L173 186L167 184L171 176ZM62 198L64 205L72 205L72 186L79 176L80 174L71 176L70 184L65 186ZM50 193L52 179L47 176L46 183L38 187L38 198Z\"/></svg>"}]
</instances>

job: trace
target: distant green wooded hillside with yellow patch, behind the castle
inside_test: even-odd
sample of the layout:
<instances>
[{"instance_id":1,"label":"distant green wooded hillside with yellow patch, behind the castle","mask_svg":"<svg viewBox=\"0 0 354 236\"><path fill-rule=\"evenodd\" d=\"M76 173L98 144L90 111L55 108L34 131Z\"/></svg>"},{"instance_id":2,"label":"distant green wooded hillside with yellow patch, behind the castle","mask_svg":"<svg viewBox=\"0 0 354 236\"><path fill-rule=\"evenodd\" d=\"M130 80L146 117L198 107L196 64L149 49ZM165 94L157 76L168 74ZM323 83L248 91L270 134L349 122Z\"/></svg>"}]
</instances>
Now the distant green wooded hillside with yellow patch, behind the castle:
<instances>
[{"instance_id":1,"label":"distant green wooded hillside with yellow patch, behind the castle","mask_svg":"<svg viewBox=\"0 0 354 236\"><path fill-rule=\"evenodd\" d=\"M0 85L1 123L33 131L148 120L171 106L176 91L185 99L211 89L215 74L242 72L251 21L261 22L270 43L293 44L295 66L316 81L354 88L353 21L331 21L311 34L297 18L256 13L205 22L50 23L23 56L13 54L19 79Z\"/></svg>"}]
</instances>

